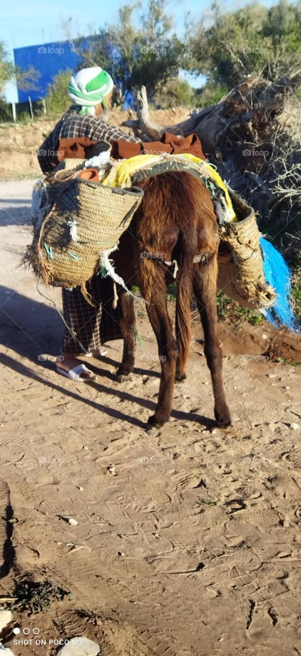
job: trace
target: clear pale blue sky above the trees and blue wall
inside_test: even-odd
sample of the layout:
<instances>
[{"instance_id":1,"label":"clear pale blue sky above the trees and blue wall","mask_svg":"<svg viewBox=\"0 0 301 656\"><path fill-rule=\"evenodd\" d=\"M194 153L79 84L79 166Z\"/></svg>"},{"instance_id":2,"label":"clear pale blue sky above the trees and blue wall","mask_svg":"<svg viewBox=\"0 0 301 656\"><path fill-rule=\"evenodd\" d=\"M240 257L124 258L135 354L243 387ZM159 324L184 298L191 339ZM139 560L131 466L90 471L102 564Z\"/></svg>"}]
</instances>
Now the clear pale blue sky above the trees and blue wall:
<instances>
[{"instance_id":1,"label":"clear pale blue sky above the trees and blue wall","mask_svg":"<svg viewBox=\"0 0 301 656\"><path fill-rule=\"evenodd\" d=\"M277 0L274 0L277 1ZM271 0L263 0L271 5ZM70 37L89 31L91 24L104 26L117 20L119 7L125 0L0 0L0 41L7 45L11 56L13 48L39 45L49 41L66 39L64 24L71 17ZM142 9L147 1L142 0ZM246 0L233 0L228 9L238 9ZM190 12L195 19L209 10L211 0L169 0L167 10L174 16L174 28L178 34L183 30L184 15ZM90 11L89 11L90 9ZM138 11L138 10L137 10ZM7 86L7 100L17 100L14 85Z\"/></svg>"}]
</instances>

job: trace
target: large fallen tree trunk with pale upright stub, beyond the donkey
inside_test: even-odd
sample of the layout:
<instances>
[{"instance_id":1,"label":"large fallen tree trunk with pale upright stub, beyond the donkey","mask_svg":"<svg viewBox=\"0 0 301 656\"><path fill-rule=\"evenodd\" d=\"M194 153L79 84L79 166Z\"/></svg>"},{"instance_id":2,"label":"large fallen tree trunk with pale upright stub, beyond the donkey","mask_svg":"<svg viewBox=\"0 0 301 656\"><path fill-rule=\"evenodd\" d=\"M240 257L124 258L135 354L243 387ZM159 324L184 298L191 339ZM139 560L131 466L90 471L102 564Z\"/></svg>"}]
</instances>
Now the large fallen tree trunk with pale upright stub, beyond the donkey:
<instances>
[{"instance_id":1,"label":"large fallen tree trunk with pale upright stub, beyond the donkey","mask_svg":"<svg viewBox=\"0 0 301 656\"><path fill-rule=\"evenodd\" d=\"M273 192L278 117L293 88L294 80L269 83L249 75L215 105L193 110L188 119L176 125L162 125L151 119L146 87L142 87L137 96L138 119L123 125L143 134L144 141L159 140L165 131L180 136L197 134L203 152L222 178L264 215L270 212L275 197L279 201L279 194Z\"/></svg>"}]
</instances>

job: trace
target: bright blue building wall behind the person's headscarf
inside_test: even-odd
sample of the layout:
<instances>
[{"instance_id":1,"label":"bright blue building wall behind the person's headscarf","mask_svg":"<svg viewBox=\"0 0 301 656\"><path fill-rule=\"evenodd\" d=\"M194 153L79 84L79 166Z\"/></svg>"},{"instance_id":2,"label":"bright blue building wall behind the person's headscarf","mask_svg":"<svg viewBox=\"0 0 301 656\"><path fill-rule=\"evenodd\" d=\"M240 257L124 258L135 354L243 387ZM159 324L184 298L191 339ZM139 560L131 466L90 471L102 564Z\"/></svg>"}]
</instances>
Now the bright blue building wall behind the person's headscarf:
<instances>
[{"instance_id":1,"label":"bright blue building wall behind the person's headscarf","mask_svg":"<svg viewBox=\"0 0 301 656\"><path fill-rule=\"evenodd\" d=\"M87 41L85 42L87 44ZM83 43L81 43L83 47ZM47 94L47 87L52 79L60 71L70 68L77 69L82 58L74 52L69 41L56 41L54 43L43 43L42 45L30 45L24 48L14 48L14 63L22 71L35 68L40 73L35 82L36 89L22 91L18 89L19 102L28 100L40 100Z\"/></svg>"}]
</instances>

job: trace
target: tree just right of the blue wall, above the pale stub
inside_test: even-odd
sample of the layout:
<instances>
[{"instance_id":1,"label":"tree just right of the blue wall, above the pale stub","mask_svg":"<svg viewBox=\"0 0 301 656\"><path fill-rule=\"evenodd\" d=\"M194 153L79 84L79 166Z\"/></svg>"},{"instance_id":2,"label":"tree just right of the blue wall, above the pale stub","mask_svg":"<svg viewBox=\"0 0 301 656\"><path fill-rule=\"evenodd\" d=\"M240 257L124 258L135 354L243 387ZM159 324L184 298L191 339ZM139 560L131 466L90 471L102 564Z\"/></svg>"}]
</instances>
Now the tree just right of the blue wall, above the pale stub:
<instances>
[{"instance_id":1,"label":"tree just right of the blue wall, above the pale stub","mask_svg":"<svg viewBox=\"0 0 301 656\"><path fill-rule=\"evenodd\" d=\"M172 18L165 13L166 0L149 0L145 14L139 5L119 9L116 25L94 31L93 45L82 52L83 66L102 66L125 89L146 85L150 99L170 78L178 77L184 43L172 33ZM115 51L111 60L111 48ZM184 91L182 91L184 93Z\"/></svg>"}]
</instances>

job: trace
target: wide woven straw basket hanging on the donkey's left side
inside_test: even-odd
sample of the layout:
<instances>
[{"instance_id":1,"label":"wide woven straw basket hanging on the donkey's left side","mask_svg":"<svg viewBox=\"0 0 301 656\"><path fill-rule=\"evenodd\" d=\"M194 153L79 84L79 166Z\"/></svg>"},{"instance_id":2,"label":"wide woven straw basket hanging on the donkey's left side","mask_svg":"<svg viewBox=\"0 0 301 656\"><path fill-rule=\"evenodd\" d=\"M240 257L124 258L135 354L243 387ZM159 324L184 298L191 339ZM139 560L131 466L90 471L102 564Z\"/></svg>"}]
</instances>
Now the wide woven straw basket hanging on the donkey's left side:
<instances>
[{"instance_id":1,"label":"wide woven straw basket hanging on the donkey's left side","mask_svg":"<svg viewBox=\"0 0 301 656\"><path fill-rule=\"evenodd\" d=\"M78 169L43 178L42 196L27 260L45 284L76 287L97 272L100 254L127 229L144 192L83 180Z\"/></svg>"}]
</instances>

